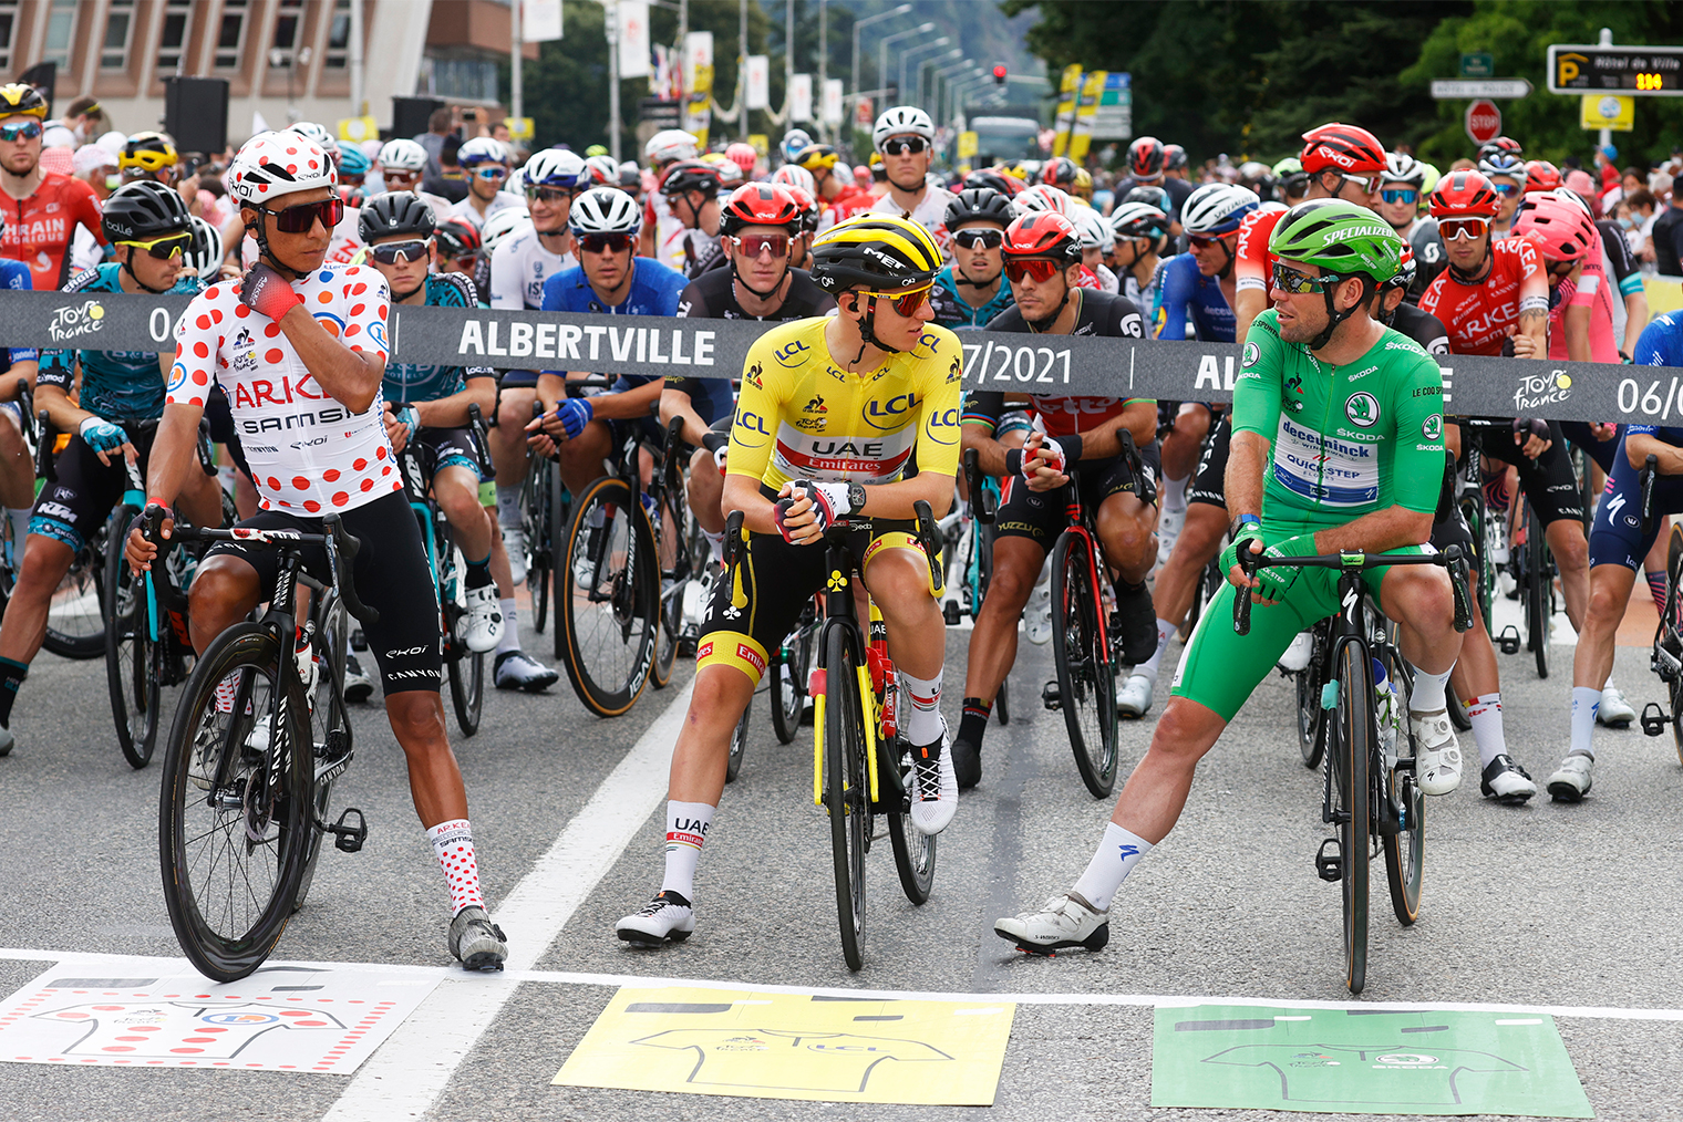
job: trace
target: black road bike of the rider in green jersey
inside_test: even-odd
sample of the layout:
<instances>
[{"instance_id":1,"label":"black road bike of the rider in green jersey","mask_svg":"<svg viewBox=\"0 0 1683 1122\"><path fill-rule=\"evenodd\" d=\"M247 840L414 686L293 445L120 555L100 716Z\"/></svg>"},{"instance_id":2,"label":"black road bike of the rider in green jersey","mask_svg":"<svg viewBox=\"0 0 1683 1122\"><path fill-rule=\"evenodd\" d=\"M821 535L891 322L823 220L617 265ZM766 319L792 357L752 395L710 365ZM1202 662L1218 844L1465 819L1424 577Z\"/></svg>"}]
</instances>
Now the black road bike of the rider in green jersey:
<instances>
[{"instance_id":1,"label":"black road bike of the rider in green jersey","mask_svg":"<svg viewBox=\"0 0 1683 1122\"><path fill-rule=\"evenodd\" d=\"M1264 558L1239 552L1247 577ZM1367 984L1368 957L1368 865L1375 848L1385 853L1392 910L1402 925L1420 915L1420 880L1426 866L1426 796L1414 775L1419 745L1407 727L1412 669L1395 646L1395 629L1387 627L1378 606L1367 595L1362 574L1387 565L1441 565L1454 585L1456 631L1473 626L1466 594L1461 548L1442 553L1345 552L1321 557L1271 557L1269 569L1335 569L1341 611L1321 654L1319 707L1328 712L1323 757L1321 821L1335 828L1314 855L1314 871L1343 890L1345 984L1358 994ZM1249 589L1235 589L1234 631L1250 632ZM1392 715L1400 727L1395 742L1380 735L1375 723L1375 666L1383 666L1394 685ZM1397 742L1409 745L1407 754Z\"/></svg>"}]
</instances>

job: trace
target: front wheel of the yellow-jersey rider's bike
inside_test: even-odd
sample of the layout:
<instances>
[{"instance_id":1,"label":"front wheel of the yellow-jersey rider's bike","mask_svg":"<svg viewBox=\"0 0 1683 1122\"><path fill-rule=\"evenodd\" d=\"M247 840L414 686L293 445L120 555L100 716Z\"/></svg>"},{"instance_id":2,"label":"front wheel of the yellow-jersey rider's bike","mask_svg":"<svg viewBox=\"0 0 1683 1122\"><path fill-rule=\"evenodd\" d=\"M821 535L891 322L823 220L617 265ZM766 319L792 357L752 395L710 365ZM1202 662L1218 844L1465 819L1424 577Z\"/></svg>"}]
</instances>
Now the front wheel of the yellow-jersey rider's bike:
<instances>
[{"instance_id":1,"label":"front wheel of the yellow-jersey rider's bike","mask_svg":"<svg viewBox=\"0 0 1683 1122\"><path fill-rule=\"evenodd\" d=\"M865 964L865 846L870 841L870 782L865 775L865 698L862 659L847 624L825 631L825 809L836 880L842 957L850 971Z\"/></svg>"}]
</instances>

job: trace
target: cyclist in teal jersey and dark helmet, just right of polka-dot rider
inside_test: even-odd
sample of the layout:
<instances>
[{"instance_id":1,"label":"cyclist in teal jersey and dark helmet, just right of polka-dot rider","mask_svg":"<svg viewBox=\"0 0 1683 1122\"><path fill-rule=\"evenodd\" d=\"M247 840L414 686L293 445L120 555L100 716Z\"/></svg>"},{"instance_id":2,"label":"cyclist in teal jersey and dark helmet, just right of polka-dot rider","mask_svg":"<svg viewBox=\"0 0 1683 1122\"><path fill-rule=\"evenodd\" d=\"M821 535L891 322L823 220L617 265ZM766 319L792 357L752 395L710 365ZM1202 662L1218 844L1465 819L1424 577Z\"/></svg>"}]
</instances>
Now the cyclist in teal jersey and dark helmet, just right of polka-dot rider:
<instances>
[{"instance_id":1,"label":"cyclist in teal jersey and dark helmet, just right of polka-dot rider","mask_svg":"<svg viewBox=\"0 0 1683 1122\"><path fill-rule=\"evenodd\" d=\"M370 264L390 286L394 304L473 308L478 303L473 281L461 273L427 274L438 215L414 192L374 195L364 202L357 225ZM463 641L470 651L490 651L503 638L505 626L496 585L500 582L502 592L513 595L513 582L507 553L496 574L500 580L493 580L495 527L480 498L491 473L488 453L468 424L468 409L478 405L481 417L493 414L496 372L490 367L389 362L380 395L385 399L385 439L399 454L411 442L421 449L421 468L429 473L433 496L461 547L468 567L463 575L468 601ZM488 498L495 505L495 495ZM508 653L498 661L505 656Z\"/></svg>"}]
</instances>

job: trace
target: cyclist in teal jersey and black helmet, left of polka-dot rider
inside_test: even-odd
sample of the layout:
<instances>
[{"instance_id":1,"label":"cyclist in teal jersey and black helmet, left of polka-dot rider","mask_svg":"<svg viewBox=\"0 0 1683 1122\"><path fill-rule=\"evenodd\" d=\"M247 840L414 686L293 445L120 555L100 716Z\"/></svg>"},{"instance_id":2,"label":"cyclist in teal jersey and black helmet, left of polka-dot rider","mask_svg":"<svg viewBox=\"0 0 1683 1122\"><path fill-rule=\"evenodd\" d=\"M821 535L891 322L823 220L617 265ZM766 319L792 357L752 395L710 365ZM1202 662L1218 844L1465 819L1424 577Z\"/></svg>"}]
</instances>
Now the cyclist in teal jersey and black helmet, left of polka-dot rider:
<instances>
[{"instance_id":1,"label":"cyclist in teal jersey and black helmet, left of polka-dot rider","mask_svg":"<svg viewBox=\"0 0 1683 1122\"><path fill-rule=\"evenodd\" d=\"M197 278L182 276L192 222L173 188L150 180L128 183L106 200L101 224L116 261L76 274L66 291L199 291ZM35 501L17 587L0 624L0 755L12 750L12 703L47 636L47 611L59 582L88 535L104 525L121 500L128 486L125 458L138 461L145 471L157 421L163 415L172 358L173 353L160 358L150 350L49 350L44 355L35 405L47 410L56 429L74 436L59 454L57 481ZM77 367L81 394L72 402ZM182 496L187 516L197 525L220 525L215 479L194 471L188 486L190 493Z\"/></svg>"}]
</instances>

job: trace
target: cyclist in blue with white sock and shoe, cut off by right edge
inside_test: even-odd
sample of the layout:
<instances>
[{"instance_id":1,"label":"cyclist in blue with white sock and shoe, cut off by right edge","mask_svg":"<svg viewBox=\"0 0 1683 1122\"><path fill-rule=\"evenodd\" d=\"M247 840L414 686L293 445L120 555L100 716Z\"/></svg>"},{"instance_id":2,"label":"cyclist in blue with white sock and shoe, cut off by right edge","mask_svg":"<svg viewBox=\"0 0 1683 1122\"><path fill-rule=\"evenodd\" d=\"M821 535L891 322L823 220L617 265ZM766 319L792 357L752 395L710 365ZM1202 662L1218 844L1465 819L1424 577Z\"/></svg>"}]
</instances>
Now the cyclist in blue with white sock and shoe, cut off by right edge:
<instances>
[{"instance_id":1,"label":"cyclist in blue with white sock and shoe, cut off by right edge","mask_svg":"<svg viewBox=\"0 0 1683 1122\"><path fill-rule=\"evenodd\" d=\"M1654 316L1636 340L1634 358L1644 367L1683 365L1683 311ZM1644 527L1641 471L1648 456L1656 458L1659 478L1654 479L1653 518ZM1589 607L1572 654L1572 742L1558 770L1548 777L1548 794L1557 802L1579 802L1589 794L1595 710L1612 673L1619 622L1631 602L1636 570L1659 535L1664 515L1678 513L1683 513L1683 427L1624 426L1589 535Z\"/></svg>"}]
</instances>

